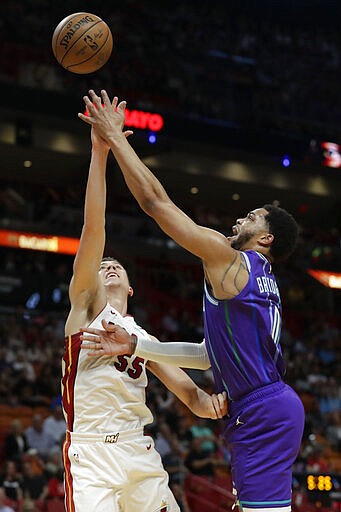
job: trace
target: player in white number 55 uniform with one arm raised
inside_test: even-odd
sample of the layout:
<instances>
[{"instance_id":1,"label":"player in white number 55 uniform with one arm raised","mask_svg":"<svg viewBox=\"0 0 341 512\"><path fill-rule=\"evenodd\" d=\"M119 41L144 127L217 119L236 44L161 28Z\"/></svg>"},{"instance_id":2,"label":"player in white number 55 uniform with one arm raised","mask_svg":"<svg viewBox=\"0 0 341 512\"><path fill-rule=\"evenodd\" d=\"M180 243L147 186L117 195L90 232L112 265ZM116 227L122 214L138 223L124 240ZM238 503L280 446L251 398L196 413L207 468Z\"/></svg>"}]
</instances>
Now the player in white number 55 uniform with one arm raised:
<instances>
[{"instance_id":1,"label":"player in white number 55 uniform with one arm raised","mask_svg":"<svg viewBox=\"0 0 341 512\"><path fill-rule=\"evenodd\" d=\"M128 134L128 133L127 133ZM102 320L139 338L148 334L127 316L133 295L127 273L105 245L106 163L109 146L92 128L92 154L84 225L75 257L65 325L63 408L67 434L63 449L68 512L174 512L179 507L151 437L153 420L145 403L146 366L195 414L226 414L223 395L212 397L178 368L135 356L89 357L81 350L81 326Z\"/></svg>"}]
</instances>

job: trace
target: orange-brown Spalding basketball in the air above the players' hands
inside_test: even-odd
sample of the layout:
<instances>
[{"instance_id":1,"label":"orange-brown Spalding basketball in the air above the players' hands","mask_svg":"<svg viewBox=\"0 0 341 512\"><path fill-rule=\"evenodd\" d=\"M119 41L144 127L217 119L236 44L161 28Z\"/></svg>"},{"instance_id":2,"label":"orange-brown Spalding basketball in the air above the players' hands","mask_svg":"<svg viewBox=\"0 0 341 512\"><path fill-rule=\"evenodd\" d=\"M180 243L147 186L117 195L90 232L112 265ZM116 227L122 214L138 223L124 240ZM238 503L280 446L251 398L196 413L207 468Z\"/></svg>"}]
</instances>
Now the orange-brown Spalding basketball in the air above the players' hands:
<instances>
[{"instance_id":1,"label":"orange-brown Spalding basketball in the air above the players' hands","mask_svg":"<svg viewBox=\"0 0 341 512\"><path fill-rule=\"evenodd\" d=\"M108 25L95 14L77 12L64 18L52 36L52 50L63 68L93 73L108 61L113 38Z\"/></svg>"}]
</instances>

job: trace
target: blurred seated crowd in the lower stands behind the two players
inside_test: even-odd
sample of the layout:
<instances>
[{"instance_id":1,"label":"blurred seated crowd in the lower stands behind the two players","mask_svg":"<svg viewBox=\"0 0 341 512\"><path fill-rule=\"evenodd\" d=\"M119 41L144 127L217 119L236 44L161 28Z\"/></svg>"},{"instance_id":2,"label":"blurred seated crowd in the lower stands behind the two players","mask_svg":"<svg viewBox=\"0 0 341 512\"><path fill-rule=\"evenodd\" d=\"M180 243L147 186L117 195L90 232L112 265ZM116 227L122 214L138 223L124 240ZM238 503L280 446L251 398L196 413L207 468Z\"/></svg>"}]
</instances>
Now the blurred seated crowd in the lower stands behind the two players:
<instances>
[{"instance_id":1,"label":"blurred seated crowd in the lower stands behind the two players","mask_svg":"<svg viewBox=\"0 0 341 512\"><path fill-rule=\"evenodd\" d=\"M56 199L52 206L39 187L33 193L26 186L25 193L25 211L30 211L30 201L39 205L39 196L42 205L49 203L50 215L54 207L58 209L56 232L67 228L68 234L79 235L81 208L76 205L80 197L75 192L70 193L69 204L66 201L64 207L56 199L58 190L45 191ZM120 259L132 278L135 293L131 313L162 341L200 341L200 264L183 259L182 252L141 219L129 203L124 207L123 199L121 210L121 215L109 210L107 233L110 250L120 246ZM201 223L219 229L228 220L222 220L220 212L214 210L200 208L191 213ZM27 229L34 222L39 225L42 215L35 217L34 208L31 216L18 212L12 215L7 205L4 218L9 228ZM52 218L45 221L51 225ZM121 231L120 225L124 227ZM341 474L339 292L325 288L306 273L316 259L316 244L337 249L339 239L336 228L322 231L317 224L301 227L296 254L285 267L277 269L284 304L286 380L299 393L306 410L304 440L294 468L296 493L304 491L308 471ZM140 250L125 253L124 244L129 242ZM39 511L63 493L61 443L65 424L60 409L60 361L73 258L2 248L0 261L0 407L9 408L4 414L11 418L6 429L2 425L0 431L2 488L8 498L23 499L26 510ZM318 266L328 263L328 258L322 259ZM190 374L199 385L213 391L210 370L191 370ZM190 512L188 494L184 493L188 475L212 482L220 478L225 486L230 485L229 452L220 436L221 425L194 418L153 376L147 398L154 414L150 433L182 510ZM16 417L16 411L22 408L26 411L24 417Z\"/></svg>"}]
</instances>

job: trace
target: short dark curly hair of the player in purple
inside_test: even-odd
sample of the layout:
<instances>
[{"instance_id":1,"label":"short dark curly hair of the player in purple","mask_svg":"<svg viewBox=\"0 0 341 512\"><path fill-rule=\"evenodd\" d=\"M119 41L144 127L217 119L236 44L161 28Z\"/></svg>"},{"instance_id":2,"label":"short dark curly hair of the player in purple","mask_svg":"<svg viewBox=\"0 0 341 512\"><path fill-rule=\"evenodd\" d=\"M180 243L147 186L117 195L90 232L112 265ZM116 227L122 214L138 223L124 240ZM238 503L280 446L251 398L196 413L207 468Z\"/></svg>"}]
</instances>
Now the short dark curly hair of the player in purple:
<instances>
[{"instance_id":1,"label":"short dark curly hair of the player in purple","mask_svg":"<svg viewBox=\"0 0 341 512\"><path fill-rule=\"evenodd\" d=\"M283 208L272 204L263 206L268 214L265 220L274 235L270 255L274 261L284 261L293 253L298 240L298 225L294 217Z\"/></svg>"}]
</instances>

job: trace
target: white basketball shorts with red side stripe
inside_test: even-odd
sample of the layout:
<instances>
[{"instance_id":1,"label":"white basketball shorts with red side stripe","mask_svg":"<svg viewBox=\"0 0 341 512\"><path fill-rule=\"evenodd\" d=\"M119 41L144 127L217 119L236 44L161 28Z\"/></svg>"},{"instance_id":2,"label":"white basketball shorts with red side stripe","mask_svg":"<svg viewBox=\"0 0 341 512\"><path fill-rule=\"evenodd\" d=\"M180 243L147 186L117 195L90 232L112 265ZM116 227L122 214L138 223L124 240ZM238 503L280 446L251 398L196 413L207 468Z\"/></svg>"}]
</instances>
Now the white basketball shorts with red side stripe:
<instances>
[{"instance_id":1,"label":"white basketball shorts with red side stripe","mask_svg":"<svg viewBox=\"0 0 341 512\"><path fill-rule=\"evenodd\" d=\"M154 441L143 430L67 432L67 512L180 512Z\"/></svg>"}]
</instances>

